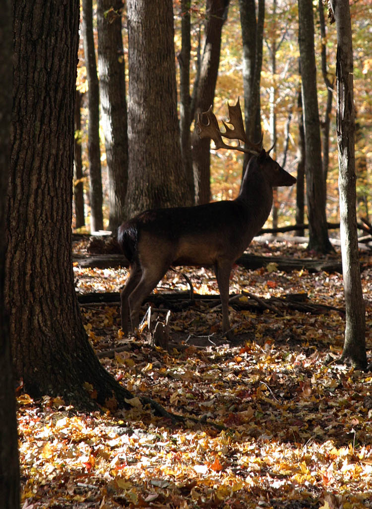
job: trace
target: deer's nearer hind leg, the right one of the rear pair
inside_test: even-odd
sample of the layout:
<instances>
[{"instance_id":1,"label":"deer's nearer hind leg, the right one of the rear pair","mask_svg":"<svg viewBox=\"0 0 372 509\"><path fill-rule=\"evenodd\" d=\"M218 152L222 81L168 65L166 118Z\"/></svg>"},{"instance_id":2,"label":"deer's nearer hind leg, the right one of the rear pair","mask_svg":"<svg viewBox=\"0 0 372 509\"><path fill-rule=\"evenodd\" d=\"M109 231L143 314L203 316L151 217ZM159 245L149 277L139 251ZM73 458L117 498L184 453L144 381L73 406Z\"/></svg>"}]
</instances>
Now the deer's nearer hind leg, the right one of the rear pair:
<instances>
[{"instance_id":1,"label":"deer's nearer hind leg, the right one of the rear pair","mask_svg":"<svg viewBox=\"0 0 372 509\"><path fill-rule=\"evenodd\" d=\"M129 295L129 308L131 313L132 330L139 325L139 314L143 300L157 286L158 282L167 272L169 264L158 267L142 267L141 279L136 288Z\"/></svg>"}]
</instances>

